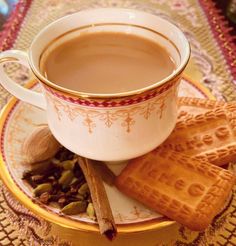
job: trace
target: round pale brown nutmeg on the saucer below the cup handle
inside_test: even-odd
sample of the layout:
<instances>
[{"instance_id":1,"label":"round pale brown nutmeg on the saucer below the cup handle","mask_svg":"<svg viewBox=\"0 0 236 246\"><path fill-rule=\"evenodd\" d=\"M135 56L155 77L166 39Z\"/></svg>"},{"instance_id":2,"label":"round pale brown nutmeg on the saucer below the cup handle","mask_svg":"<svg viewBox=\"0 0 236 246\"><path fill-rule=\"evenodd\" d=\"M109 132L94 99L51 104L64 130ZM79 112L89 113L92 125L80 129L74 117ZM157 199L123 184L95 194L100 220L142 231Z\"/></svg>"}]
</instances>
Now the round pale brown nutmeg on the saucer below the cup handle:
<instances>
[{"instance_id":1,"label":"round pale brown nutmeg on the saucer below the cup handle","mask_svg":"<svg viewBox=\"0 0 236 246\"><path fill-rule=\"evenodd\" d=\"M48 126L37 127L23 143L23 154L28 163L45 161L61 148Z\"/></svg>"}]
</instances>

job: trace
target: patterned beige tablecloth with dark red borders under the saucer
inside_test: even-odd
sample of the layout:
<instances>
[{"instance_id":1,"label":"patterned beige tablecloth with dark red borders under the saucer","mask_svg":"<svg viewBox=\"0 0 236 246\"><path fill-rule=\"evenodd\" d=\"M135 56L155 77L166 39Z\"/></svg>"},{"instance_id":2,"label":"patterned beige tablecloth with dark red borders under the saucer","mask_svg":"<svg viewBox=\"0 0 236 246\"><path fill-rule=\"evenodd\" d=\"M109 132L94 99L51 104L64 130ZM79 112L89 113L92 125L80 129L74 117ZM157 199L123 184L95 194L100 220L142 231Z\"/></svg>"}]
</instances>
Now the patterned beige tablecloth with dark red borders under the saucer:
<instances>
[{"instance_id":1,"label":"patterned beige tablecloth with dark red borders under the saucer","mask_svg":"<svg viewBox=\"0 0 236 246\"><path fill-rule=\"evenodd\" d=\"M217 99L236 100L235 43L224 19L208 0L35 0L20 1L0 36L0 49L27 50L35 34L51 21L82 9L124 7L159 15L177 24L188 37L192 56L186 74L200 81ZM17 82L28 78L26 68L7 66ZM0 107L9 94L0 88ZM52 225L20 205L0 184L0 245L71 245ZM156 245L235 245L236 198L232 198L211 226L201 233L184 227L165 230L166 242ZM164 232L163 232L164 233Z\"/></svg>"}]
</instances>

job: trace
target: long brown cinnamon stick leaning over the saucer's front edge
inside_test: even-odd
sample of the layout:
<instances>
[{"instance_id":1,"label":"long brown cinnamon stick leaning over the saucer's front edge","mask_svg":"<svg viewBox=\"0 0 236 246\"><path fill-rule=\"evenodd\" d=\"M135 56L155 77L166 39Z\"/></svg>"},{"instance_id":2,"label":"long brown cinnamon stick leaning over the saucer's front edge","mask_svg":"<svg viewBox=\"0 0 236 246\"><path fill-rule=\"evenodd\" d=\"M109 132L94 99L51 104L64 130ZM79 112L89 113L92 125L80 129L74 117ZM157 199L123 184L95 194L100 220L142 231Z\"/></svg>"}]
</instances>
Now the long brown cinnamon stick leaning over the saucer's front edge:
<instances>
[{"instance_id":1,"label":"long brown cinnamon stick leaning over the saucer's front edge","mask_svg":"<svg viewBox=\"0 0 236 246\"><path fill-rule=\"evenodd\" d=\"M92 160L78 156L78 162L90 189L100 233L113 240L117 230L101 175Z\"/></svg>"}]
</instances>

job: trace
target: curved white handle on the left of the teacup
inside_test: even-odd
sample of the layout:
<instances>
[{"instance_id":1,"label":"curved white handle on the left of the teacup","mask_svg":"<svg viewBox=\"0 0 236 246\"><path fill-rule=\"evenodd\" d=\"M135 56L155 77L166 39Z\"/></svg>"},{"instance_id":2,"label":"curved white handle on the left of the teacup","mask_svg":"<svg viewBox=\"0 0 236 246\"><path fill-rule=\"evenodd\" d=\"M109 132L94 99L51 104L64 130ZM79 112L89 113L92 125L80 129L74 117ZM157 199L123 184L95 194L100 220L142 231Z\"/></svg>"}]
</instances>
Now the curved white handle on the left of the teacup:
<instances>
[{"instance_id":1,"label":"curved white handle on the left of the teacup","mask_svg":"<svg viewBox=\"0 0 236 246\"><path fill-rule=\"evenodd\" d=\"M4 63L7 62L18 62L30 69L27 54L20 50L7 50L0 53L0 84L20 100L46 109L46 100L43 94L26 89L8 77L3 69Z\"/></svg>"}]
</instances>

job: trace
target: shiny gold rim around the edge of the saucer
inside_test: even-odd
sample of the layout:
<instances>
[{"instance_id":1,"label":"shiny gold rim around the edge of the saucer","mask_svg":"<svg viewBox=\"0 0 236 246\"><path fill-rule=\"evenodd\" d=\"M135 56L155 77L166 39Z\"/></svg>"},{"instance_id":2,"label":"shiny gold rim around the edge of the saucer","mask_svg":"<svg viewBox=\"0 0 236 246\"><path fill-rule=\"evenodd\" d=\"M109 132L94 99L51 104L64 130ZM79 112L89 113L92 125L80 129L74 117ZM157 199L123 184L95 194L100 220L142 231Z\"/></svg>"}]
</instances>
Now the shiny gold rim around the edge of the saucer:
<instances>
[{"instance_id":1,"label":"shiny gold rim around the edge of the saucer","mask_svg":"<svg viewBox=\"0 0 236 246\"><path fill-rule=\"evenodd\" d=\"M199 91L203 92L207 98L215 99L215 97L208 91L206 87L203 85L192 81L187 76L187 81L189 81L192 85L194 85ZM26 88L33 87L37 81L32 80L25 86ZM5 122L8 118L9 113L14 108L14 106L19 102L19 100L15 97L11 98L11 100L3 107L0 113L0 136L3 132L3 128ZM0 145L1 147L1 145ZM62 227L88 231L88 232L97 232L99 233L98 225L95 223L88 223L83 221L75 221L68 219L66 217L61 217L53 212L46 210L45 208L39 206L39 204L35 203L33 199L30 199L21 188L14 182L10 173L8 172L8 168L3 159L2 150L0 150L0 175L1 180L7 186L9 191L16 197L18 201L20 201L25 207L34 212L37 216L50 221L54 224L60 225ZM142 231L150 231L150 230L159 230L161 228L170 226L175 224L175 221L169 220L168 218L157 218L143 222L136 223L127 223L127 224L117 224L118 233L136 233Z\"/></svg>"}]
</instances>

